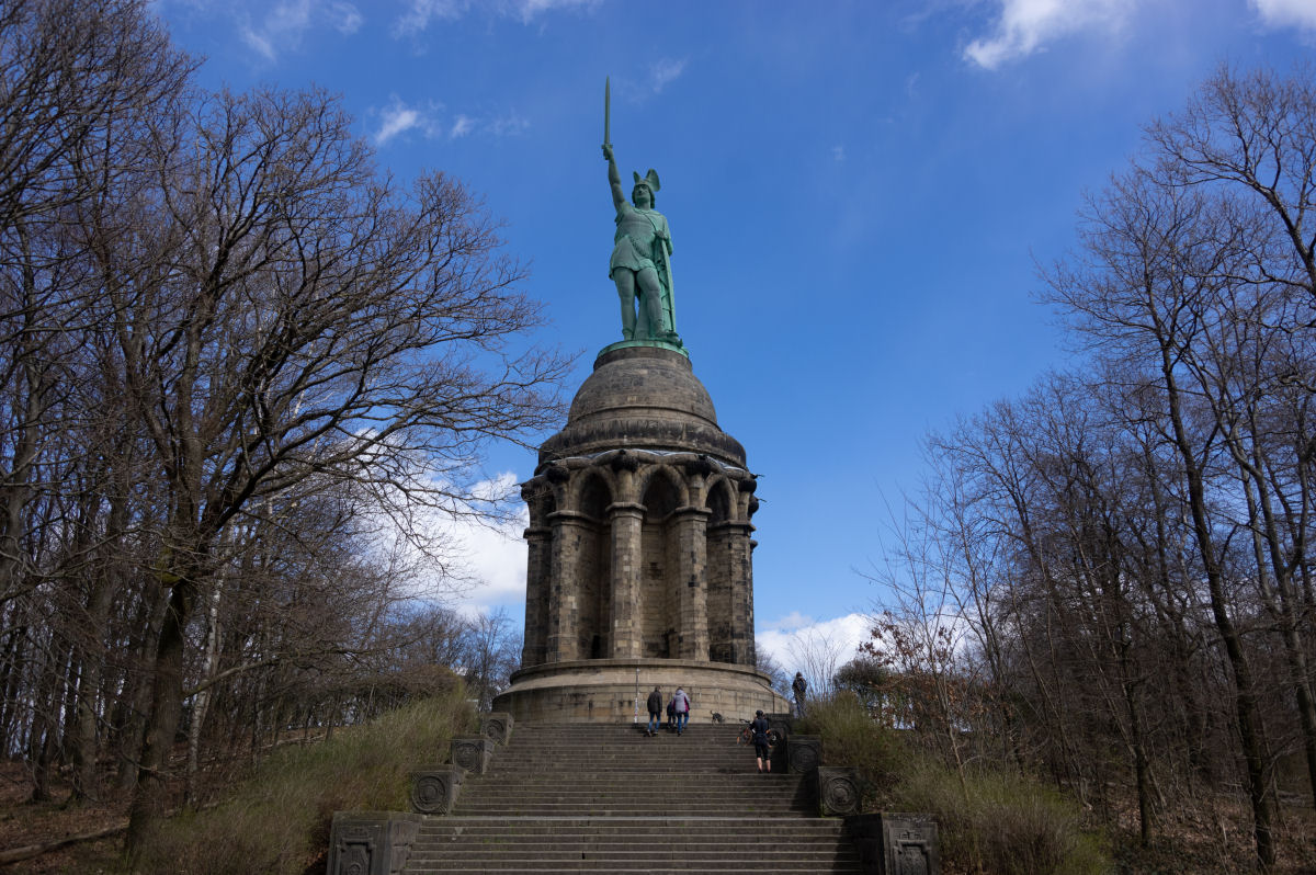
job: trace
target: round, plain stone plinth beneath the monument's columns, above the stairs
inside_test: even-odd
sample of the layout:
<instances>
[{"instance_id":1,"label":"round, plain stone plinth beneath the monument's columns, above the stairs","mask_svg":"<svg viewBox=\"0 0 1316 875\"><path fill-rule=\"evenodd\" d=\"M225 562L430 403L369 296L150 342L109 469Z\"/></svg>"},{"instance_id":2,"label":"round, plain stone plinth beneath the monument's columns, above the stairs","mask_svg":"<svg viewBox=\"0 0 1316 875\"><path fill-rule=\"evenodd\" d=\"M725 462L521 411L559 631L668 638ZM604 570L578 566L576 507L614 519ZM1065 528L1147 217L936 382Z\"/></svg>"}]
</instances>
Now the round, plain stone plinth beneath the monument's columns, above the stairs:
<instances>
[{"instance_id":1,"label":"round, plain stone plinth beneath the monument's columns, above the stairs","mask_svg":"<svg viewBox=\"0 0 1316 875\"><path fill-rule=\"evenodd\" d=\"M713 722L719 713L729 724L749 720L755 711L788 712L767 675L747 666L691 659L582 659L522 668L512 686L494 699L494 711L512 713L516 722L640 722L649 720L646 701L662 689L663 705L683 688L690 695L690 722Z\"/></svg>"}]
</instances>

